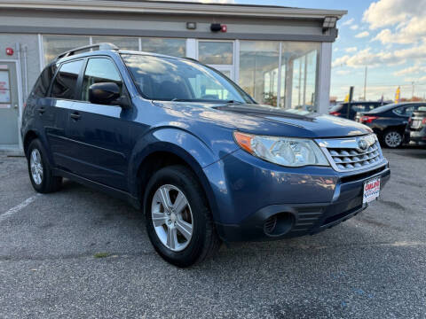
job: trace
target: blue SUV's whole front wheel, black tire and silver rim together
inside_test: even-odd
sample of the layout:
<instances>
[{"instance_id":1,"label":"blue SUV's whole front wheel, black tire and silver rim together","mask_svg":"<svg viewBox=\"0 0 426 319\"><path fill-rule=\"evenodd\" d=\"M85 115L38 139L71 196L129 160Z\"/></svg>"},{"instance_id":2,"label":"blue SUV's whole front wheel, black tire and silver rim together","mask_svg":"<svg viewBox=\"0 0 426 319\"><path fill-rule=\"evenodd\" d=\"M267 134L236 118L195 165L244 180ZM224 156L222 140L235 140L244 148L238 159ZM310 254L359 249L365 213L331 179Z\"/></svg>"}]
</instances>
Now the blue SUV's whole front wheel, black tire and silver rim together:
<instances>
[{"instance_id":1,"label":"blue SUV's whole front wheel, black tire and silver rim together","mask_svg":"<svg viewBox=\"0 0 426 319\"><path fill-rule=\"evenodd\" d=\"M207 198L187 167L157 171L146 186L144 208L148 237L164 260L185 268L217 253L220 240Z\"/></svg>"}]
</instances>

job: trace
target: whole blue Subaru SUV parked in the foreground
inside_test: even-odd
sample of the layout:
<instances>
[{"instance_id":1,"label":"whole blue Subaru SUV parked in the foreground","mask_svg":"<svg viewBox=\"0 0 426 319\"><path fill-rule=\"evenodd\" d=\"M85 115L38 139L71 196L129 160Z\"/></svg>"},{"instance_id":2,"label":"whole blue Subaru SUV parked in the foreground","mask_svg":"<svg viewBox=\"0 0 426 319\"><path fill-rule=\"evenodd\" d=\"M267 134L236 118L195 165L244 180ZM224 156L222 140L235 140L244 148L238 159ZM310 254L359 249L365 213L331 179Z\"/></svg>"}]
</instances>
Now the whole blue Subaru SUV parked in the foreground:
<instances>
[{"instance_id":1,"label":"whole blue Subaru SUV parked in the foreground","mask_svg":"<svg viewBox=\"0 0 426 319\"><path fill-rule=\"evenodd\" d=\"M59 55L28 98L30 181L47 193L66 177L128 200L155 250L177 266L221 241L327 230L359 214L390 178L362 124L257 105L190 59L90 48L99 50Z\"/></svg>"}]
</instances>

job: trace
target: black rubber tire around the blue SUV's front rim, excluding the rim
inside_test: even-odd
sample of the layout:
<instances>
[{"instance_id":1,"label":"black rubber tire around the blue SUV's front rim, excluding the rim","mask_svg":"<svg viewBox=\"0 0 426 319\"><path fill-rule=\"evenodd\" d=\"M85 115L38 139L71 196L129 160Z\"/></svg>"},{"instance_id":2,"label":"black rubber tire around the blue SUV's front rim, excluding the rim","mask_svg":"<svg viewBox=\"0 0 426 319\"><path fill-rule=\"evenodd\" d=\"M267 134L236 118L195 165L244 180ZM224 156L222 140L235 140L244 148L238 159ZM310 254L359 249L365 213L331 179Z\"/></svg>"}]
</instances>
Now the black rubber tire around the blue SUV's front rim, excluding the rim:
<instances>
[{"instance_id":1,"label":"black rubber tire around the blue SUV's front rim, excluding the rim","mask_svg":"<svg viewBox=\"0 0 426 319\"><path fill-rule=\"evenodd\" d=\"M193 237L191 238L189 245L180 252L173 252L162 244L162 241L155 232L152 221L151 206L154 193L165 184L174 185L180 191L183 191L185 198L188 200L189 206L191 206L191 212L193 214ZM199 192L194 189L194 187L195 185L188 176L173 167L162 168L154 174L146 186L144 211L148 236L157 253L160 253L166 261L170 261L179 267L185 267L193 264L200 255L205 241L205 237L203 235L206 231L207 221L205 213L207 207L203 202L203 198L201 198Z\"/></svg>"}]
</instances>

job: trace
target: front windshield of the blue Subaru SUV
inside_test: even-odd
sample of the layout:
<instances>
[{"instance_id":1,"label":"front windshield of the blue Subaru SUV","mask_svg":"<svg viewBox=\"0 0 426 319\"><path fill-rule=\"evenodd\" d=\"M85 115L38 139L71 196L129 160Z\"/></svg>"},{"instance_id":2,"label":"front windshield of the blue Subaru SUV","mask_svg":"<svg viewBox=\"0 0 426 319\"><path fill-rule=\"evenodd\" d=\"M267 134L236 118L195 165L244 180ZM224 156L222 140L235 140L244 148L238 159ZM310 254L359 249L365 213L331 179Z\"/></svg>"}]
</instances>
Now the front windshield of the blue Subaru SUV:
<instances>
[{"instance_id":1,"label":"front windshield of the blue Subaru SUV","mask_svg":"<svg viewBox=\"0 0 426 319\"><path fill-rule=\"evenodd\" d=\"M190 60L122 54L143 97L162 101L255 103L223 74Z\"/></svg>"}]
</instances>

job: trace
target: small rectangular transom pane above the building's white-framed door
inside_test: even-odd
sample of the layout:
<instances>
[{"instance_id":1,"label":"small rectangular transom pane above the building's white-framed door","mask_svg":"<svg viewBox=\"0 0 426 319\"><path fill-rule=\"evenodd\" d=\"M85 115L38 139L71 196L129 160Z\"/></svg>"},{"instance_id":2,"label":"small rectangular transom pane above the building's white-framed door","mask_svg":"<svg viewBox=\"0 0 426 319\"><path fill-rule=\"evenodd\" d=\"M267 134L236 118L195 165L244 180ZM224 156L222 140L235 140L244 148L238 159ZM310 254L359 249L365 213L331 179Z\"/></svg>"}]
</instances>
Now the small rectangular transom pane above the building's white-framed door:
<instances>
[{"instance_id":1,"label":"small rectangular transom pane above the building's white-framed door","mask_svg":"<svg viewBox=\"0 0 426 319\"><path fill-rule=\"evenodd\" d=\"M198 43L198 60L207 65L232 65L233 43L200 41Z\"/></svg>"}]
</instances>

